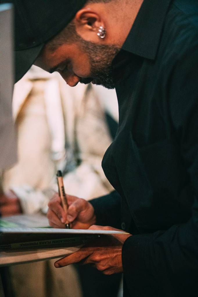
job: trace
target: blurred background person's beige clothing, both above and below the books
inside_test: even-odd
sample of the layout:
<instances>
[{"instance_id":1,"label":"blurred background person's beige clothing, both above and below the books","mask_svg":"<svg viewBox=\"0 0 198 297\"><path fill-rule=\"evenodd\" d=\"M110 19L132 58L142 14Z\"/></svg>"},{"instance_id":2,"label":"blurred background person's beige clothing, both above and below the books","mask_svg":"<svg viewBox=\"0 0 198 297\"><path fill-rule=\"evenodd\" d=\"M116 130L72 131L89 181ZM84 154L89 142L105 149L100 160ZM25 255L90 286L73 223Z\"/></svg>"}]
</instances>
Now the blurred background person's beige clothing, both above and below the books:
<instances>
[{"instance_id":1,"label":"blurred background person's beige clothing, both above and below the books","mask_svg":"<svg viewBox=\"0 0 198 297\"><path fill-rule=\"evenodd\" d=\"M53 89L49 92L48 88L53 85L56 88L57 83L60 94L58 97L56 94L55 99L61 100L58 102L61 102L62 113L48 105L53 99L50 96ZM35 70L29 71L17 86L19 93L17 101L14 100L14 114L18 127L19 161L4 172L4 189L14 189L24 212L44 211L49 199L45 189L56 188L56 169L65 165L64 139L67 143L67 166L71 164L72 167L77 158L82 159L80 166L64 176L66 192L89 199L107 194L112 186L104 176L101 161L111 139L104 112L91 85L70 88L60 76ZM56 137L54 128L61 127L61 116L64 135ZM58 147L52 145L55 138ZM9 270L16 296L81 297L74 268L54 268L54 261L11 266Z\"/></svg>"}]
</instances>

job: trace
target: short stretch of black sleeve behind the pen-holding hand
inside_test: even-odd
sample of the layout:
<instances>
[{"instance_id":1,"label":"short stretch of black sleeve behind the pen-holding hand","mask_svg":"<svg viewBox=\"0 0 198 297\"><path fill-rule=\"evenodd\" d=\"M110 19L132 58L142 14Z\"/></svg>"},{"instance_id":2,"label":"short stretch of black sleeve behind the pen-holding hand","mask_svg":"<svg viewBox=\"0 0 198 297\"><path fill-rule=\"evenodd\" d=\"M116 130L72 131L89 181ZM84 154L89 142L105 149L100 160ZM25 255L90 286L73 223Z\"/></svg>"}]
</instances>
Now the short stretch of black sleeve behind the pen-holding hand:
<instances>
[{"instance_id":1,"label":"short stretch of black sleeve behind the pen-holding hand","mask_svg":"<svg viewBox=\"0 0 198 297\"><path fill-rule=\"evenodd\" d=\"M117 191L89 202L95 210L96 225L121 229L121 196Z\"/></svg>"}]
</instances>

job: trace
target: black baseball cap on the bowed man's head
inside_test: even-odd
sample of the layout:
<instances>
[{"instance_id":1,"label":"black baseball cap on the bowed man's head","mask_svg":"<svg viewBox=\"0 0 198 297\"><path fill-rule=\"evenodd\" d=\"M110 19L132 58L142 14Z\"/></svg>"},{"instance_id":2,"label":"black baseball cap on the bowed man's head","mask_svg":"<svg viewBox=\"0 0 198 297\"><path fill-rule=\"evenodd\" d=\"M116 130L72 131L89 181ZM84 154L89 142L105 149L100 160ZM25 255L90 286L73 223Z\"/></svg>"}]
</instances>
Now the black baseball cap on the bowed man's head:
<instances>
[{"instance_id":1,"label":"black baseball cap on the bowed man's head","mask_svg":"<svg viewBox=\"0 0 198 297\"><path fill-rule=\"evenodd\" d=\"M28 71L45 43L66 27L86 1L7 1L13 3L15 15L15 82Z\"/></svg>"}]
</instances>

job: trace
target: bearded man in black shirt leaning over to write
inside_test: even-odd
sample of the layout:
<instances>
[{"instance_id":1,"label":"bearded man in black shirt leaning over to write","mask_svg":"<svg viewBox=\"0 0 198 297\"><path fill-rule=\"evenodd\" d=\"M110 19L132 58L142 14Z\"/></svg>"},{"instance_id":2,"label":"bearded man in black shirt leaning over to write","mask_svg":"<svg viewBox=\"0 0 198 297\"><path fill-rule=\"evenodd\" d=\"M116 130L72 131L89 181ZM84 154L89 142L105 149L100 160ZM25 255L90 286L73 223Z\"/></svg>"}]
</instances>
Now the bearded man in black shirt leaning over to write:
<instances>
[{"instance_id":1,"label":"bearded man in black shirt leaning over to write","mask_svg":"<svg viewBox=\"0 0 198 297\"><path fill-rule=\"evenodd\" d=\"M118 97L119 127L102 162L116 191L90 203L68 196L67 219L72 228L130 233L101 238L55 266L123 271L124 296L198 296L197 2L88 2L41 48L36 65L70 86L115 86ZM58 195L48 219L64 228Z\"/></svg>"}]
</instances>

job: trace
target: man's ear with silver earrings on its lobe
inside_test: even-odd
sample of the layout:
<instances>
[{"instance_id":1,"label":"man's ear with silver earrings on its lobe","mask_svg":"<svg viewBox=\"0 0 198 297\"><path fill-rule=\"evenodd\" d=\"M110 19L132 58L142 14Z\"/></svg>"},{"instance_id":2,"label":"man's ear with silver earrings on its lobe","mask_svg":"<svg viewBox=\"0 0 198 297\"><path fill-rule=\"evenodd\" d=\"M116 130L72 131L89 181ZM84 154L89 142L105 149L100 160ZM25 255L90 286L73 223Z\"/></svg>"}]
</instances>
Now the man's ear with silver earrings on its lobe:
<instances>
[{"instance_id":1,"label":"man's ear with silver earrings on its lobe","mask_svg":"<svg viewBox=\"0 0 198 297\"><path fill-rule=\"evenodd\" d=\"M104 22L102 21L99 13L91 9L81 9L79 10L74 18L76 31L84 40L99 42L97 36L98 29L100 26L104 27Z\"/></svg>"}]
</instances>

